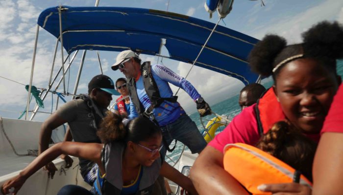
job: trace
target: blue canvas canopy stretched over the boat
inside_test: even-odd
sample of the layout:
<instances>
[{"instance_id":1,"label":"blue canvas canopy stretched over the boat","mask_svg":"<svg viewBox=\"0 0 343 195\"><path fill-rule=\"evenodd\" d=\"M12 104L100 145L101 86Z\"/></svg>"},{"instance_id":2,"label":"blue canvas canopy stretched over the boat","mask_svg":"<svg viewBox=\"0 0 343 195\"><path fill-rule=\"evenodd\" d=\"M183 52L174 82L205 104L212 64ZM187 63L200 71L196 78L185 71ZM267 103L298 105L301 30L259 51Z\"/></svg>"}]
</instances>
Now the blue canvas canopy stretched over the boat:
<instances>
[{"instance_id":1,"label":"blue canvas canopy stretched over the boat","mask_svg":"<svg viewBox=\"0 0 343 195\"><path fill-rule=\"evenodd\" d=\"M161 41L169 58L185 63L196 59L214 23L171 12L127 7L61 6L63 47L75 50L133 51L156 55ZM56 38L60 36L59 6L44 10L38 25ZM218 25L196 65L241 80L256 82L246 62L258 40Z\"/></svg>"}]
</instances>

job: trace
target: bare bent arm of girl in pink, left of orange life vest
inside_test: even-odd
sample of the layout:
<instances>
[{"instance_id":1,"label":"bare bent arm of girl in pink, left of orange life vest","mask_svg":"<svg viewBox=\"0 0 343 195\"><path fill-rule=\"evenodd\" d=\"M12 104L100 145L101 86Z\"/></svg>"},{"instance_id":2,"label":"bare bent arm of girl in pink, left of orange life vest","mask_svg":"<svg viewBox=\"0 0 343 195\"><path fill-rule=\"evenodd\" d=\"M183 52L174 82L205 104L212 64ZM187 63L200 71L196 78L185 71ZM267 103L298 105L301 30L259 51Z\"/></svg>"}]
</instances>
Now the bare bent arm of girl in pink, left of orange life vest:
<instances>
[{"instance_id":1,"label":"bare bent arm of girl in pink, left of orange life vest","mask_svg":"<svg viewBox=\"0 0 343 195\"><path fill-rule=\"evenodd\" d=\"M248 195L223 168L223 153L206 146L194 163L190 178L199 195Z\"/></svg>"}]
</instances>

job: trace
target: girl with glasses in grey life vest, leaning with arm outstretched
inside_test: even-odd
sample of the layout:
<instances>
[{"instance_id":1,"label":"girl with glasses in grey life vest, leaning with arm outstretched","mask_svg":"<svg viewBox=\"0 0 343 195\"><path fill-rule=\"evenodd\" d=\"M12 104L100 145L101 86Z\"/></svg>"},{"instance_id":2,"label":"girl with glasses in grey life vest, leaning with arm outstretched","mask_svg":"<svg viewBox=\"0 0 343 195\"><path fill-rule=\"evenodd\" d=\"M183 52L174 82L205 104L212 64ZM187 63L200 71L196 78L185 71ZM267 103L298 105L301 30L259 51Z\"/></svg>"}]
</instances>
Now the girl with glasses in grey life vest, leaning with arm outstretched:
<instances>
[{"instance_id":1,"label":"girl with glasses in grey life vest, leaning with arm outstretched","mask_svg":"<svg viewBox=\"0 0 343 195\"><path fill-rule=\"evenodd\" d=\"M159 152L162 148L161 130L149 119L138 117L129 121L109 112L97 134L103 144L55 144L32 161L18 176L5 182L1 191L7 194L13 187L13 193L16 194L29 176L65 153L92 160L99 168L91 191L80 186L67 185L58 195L150 195L159 174L179 184L190 194L197 194L188 177L163 162Z\"/></svg>"}]
</instances>

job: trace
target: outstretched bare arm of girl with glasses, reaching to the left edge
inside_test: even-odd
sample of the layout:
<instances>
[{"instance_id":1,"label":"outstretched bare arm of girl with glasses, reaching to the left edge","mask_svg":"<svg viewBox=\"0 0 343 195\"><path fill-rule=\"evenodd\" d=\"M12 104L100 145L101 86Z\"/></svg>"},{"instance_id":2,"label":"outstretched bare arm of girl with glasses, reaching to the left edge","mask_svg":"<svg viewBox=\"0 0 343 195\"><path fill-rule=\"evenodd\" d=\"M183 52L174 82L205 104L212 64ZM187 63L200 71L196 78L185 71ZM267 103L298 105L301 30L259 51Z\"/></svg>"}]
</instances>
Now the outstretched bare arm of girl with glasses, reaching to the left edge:
<instances>
[{"instance_id":1,"label":"outstretched bare arm of girl with glasses, reaching to the left edge","mask_svg":"<svg viewBox=\"0 0 343 195\"><path fill-rule=\"evenodd\" d=\"M18 176L6 181L2 185L1 191L4 194L8 194L9 190L14 187L13 193L16 194L28 177L62 153L92 160L98 164L101 173L104 173L104 168L102 166L100 157L102 146L103 144L86 144L79 142L60 142L55 144L35 158L22 172L19 173Z\"/></svg>"}]
</instances>

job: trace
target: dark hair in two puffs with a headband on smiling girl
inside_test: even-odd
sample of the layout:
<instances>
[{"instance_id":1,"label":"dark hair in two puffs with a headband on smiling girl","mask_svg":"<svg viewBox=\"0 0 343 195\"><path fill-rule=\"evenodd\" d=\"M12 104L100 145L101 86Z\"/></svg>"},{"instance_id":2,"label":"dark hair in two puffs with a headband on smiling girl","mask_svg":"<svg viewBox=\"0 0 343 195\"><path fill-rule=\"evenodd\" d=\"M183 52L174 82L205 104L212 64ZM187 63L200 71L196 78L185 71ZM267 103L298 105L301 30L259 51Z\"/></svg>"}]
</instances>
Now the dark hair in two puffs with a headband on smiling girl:
<instances>
[{"instance_id":1,"label":"dark hair in two puffs with a headband on smiling girl","mask_svg":"<svg viewBox=\"0 0 343 195\"><path fill-rule=\"evenodd\" d=\"M338 22L319 22L302 34L304 43L287 45L286 40L277 35L267 35L257 43L249 54L252 70L263 76L275 76L272 69L298 58L312 58L336 72L336 59L343 58L343 27ZM303 54L303 56L294 57ZM285 61L285 62L283 62Z\"/></svg>"}]
</instances>

